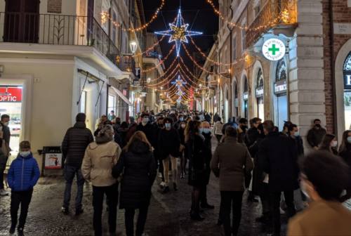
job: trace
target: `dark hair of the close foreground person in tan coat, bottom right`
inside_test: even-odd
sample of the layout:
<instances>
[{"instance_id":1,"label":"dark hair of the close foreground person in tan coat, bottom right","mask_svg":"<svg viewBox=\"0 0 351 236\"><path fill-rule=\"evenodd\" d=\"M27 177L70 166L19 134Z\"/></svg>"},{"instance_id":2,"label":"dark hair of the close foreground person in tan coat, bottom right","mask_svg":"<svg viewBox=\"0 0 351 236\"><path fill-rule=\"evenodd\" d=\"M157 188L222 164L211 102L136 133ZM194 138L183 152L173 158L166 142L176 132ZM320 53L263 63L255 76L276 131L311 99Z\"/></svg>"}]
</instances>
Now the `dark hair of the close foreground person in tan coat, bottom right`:
<instances>
[{"instance_id":1,"label":"dark hair of the close foreground person in tan coat, bottom right","mask_svg":"<svg viewBox=\"0 0 351 236\"><path fill-rule=\"evenodd\" d=\"M350 183L348 166L330 152L311 152L301 162L300 169L322 199L339 200Z\"/></svg>"}]
</instances>

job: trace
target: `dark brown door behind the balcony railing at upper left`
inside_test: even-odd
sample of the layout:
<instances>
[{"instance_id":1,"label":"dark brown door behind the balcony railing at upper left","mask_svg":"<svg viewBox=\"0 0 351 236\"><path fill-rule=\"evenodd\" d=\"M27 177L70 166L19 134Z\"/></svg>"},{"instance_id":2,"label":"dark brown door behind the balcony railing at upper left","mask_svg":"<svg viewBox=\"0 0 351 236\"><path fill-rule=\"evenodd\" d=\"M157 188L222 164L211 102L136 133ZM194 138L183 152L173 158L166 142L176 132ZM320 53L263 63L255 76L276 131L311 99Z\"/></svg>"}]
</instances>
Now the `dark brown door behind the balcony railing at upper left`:
<instances>
[{"instance_id":1,"label":"dark brown door behind the balcony railing at upper left","mask_svg":"<svg viewBox=\"0 0 351 236\"><path fill-rule=\"evenodd\" d=\"M39 33L39 0L7 0L4 41L37 43Z\"/></svg>"}]
</instances>

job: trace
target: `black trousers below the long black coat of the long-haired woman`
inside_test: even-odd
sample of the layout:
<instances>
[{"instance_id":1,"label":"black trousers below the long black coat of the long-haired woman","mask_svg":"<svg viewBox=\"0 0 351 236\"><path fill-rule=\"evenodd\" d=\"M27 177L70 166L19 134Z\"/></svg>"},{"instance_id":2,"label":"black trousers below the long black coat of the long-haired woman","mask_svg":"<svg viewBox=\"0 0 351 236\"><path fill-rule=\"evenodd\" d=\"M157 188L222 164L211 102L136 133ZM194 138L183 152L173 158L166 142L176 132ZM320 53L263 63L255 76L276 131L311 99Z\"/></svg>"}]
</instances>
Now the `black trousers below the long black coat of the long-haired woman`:
<instances>
[{"instance_id":1,"label":"black trousers below the long black coat of the long-haired woman","mask_svg":"<svg viewBox=\"0 0 351 236\"><path fill-rule=\"evenodd\" d=\"M138 221L136 223L136 232L135 232L136 236L143 235L148 209L149 209L149 206L143 206L139 209ZM134 235L134 215L135 215L135 209L126 208L125 222L126 222L127 236Z\"/></svg>"}]
</instances>

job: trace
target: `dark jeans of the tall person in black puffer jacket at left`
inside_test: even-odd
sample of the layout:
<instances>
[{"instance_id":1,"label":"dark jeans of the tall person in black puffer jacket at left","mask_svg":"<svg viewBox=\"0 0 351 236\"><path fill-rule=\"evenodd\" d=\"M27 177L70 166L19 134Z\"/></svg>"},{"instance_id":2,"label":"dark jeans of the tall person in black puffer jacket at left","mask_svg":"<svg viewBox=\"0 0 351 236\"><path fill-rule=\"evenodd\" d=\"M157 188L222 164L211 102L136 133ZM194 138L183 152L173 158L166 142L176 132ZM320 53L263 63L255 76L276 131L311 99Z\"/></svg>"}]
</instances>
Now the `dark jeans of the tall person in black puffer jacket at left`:
<instances>
[{"instance_id":1,"label":"dark jeans of the tall person in black puffer jacket at left","mask_svg":"<svg viewBox=\"0 0 351 236\"><path fill-rule=\"evenodd\" d=\"M69 201L71 199L71 190L74 175L77 178L77 196L76 196L76 210L81 209L81 199L83 198L83 187L84 187L84 178L81 174L81 168L76 166L65 166L64 176L66 181L65 186L65 195L63 199L63 207L69 208Z\"/></svg>"}]
</instances>

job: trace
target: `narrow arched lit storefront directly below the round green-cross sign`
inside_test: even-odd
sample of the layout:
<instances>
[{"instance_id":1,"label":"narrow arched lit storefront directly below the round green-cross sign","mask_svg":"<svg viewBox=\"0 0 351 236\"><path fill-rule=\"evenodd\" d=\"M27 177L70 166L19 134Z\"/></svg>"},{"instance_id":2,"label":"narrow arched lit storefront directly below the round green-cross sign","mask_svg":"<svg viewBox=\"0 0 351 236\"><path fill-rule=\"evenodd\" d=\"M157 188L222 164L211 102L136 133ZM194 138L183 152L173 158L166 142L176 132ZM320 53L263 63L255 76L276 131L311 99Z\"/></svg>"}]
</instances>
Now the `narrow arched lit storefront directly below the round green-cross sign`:
<instances>
[{"instance_id":1,"label":"narrow arched lit storefront directly below the round green-cross sign","mask_svg":"<svg viewBox=\"0 0 351 236\"><path fill-rule=\"evenodd\" d=\"M287 96L287 73L284 59L279 60L274 79L274 123L279 130L283 129L284 121L289 120L288 116L288 96Z\"/></svg>"}]
</instances>

